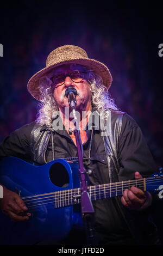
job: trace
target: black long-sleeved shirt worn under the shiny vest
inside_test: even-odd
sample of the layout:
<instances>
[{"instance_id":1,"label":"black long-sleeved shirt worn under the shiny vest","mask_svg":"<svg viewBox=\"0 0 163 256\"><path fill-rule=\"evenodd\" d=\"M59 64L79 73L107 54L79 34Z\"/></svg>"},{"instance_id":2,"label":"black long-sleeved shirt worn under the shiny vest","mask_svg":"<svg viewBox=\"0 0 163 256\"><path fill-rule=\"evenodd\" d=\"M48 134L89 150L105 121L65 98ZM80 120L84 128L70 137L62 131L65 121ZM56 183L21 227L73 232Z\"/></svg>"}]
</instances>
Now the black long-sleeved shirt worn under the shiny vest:
<instances>
[{"instance_id":1,"label":"black long-sleeved shirt worn under the shiny vest","mask_svg":"<svg viewBox=\"0 0 163 256\"><path fill-rule=\"evenodd\" d=\"M0 147L0 157L16 156L31 162L30 133L35 122L24 125L5 138ZM87 130L88 140L83 144L84 157L89 156L91 131ZM75 157L77 147L66 130L54 132L54 158ZM49 140L46 160L52 161L52 141ZM155 170L153 157L143 139L142 132L135 121L128 115L123 115L121 135L118 143L118 160L120 170L118 179L134 179L134 173L139 171L142 176L151 175ZM99 131L93 131L91 161L88 166L92 170L90 185L109 183L108 164L106 161L103 138ZM125 239L130 237L129 230L121 212L117 209L115 198L93 202L95 209L96 231L108 235L110 239Z\"/></svg>"}]
</instances>

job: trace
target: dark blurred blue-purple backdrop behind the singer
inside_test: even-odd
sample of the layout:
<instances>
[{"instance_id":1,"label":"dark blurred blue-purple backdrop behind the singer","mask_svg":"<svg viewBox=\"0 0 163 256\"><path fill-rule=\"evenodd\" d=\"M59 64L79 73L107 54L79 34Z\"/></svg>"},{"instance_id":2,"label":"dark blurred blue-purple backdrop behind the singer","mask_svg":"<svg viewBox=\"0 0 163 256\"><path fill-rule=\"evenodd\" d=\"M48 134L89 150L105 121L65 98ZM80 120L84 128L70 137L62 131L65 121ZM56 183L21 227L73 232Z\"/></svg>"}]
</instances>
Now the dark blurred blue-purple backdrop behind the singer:
<instances>
[{"instance_id":1,"label":"dark blurred blue-purple backdrop behind the singer","mask_svg":"<svg viewBox=\"0 0 163 256\"><path fill-rule=\"evenodd\" d=\"M61 45L77 45L103 62L113 77L110 94L133 117L159 167L162 146L162 13L158 2L13 1L1 3L0 142L36 119L27 82ZM163 51L162 51L163 53Z\"/></svg>"}]
</instances>

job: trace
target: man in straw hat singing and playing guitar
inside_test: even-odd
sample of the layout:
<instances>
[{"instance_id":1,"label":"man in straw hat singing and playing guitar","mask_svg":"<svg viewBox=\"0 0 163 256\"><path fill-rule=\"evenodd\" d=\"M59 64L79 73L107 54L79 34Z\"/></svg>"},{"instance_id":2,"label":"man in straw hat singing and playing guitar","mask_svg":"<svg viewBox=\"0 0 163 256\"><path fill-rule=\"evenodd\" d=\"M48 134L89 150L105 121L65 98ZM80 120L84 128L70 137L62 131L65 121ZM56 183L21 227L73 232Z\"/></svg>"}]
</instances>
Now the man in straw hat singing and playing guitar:
<instances>
[{"instance_id":1,"label":"man in straw hat singing and playing guitar","mask_svg":"<svg viewBox=\"0 0 163 256\"><path fill-rule=\"evenodd\" d=\"M84 157L88 159L87 168L92 170L90 184L141 179L151 175L155 169L151 153L139 126L129 115L119 112L110 98L108 89L111 82L109 69L103 63L89 59L82 48L65 45L52 51L47 57L46 68L28 82L29 93L41 102L39 116L35 122L12 132L5 139L1 145L1 158L16 156L40 165L54 159L77 156L76 138L70 132L74 129L73 117L65 112L69 108L65 91L71 87L77 91L80 137ZM57 111L64 129L56 127ZM94 112L98 117L103 113L98 129L96 120L91 119ZM92 129L89 129L90 119ZM86 129L83 124L86 124ZM5 187L3 193L3 213L14 221L28 221L31 214L21 197ZM155 243L149 236L154 226L148 225L147 220L151 205L151 194L134 186L124 190L121 198L93 202L98 243ZM23 212L26 212L25 216L22 216ZM140 236L139 226L142 223L143 235ZM73 240L71 234L67 236L65 243L73 244L76 234ZM153 238L156 240L156 237Z\"/></svg>"}]
</instances>

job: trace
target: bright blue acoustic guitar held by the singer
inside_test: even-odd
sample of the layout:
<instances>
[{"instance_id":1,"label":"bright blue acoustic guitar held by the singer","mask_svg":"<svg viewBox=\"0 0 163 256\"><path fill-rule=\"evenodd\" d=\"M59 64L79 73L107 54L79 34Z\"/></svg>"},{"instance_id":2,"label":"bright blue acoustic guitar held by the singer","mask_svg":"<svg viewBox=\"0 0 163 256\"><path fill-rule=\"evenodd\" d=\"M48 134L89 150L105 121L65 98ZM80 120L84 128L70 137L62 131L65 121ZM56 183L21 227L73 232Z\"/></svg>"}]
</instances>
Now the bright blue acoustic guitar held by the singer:
<instances>
[{"instance_id":1,"label":"bright blue acoustic guitar held by the singer","mask_svg":"<svg viewBox=\"0 0 163 256\"><path fill-rule=\"evenodd\" d=\"M42 240L63 239L79 221L74 205L80 204L78 163L63 159L34 166L16 157L1 161L0 183L20 195L32 214L28 221L13 222L0 212L1 245L33 245ZM163 175L89 186L91 200L121 196L136 186L158 193ZM160 188L161 187L161 188Z\"/></svg>"}]
</instances>

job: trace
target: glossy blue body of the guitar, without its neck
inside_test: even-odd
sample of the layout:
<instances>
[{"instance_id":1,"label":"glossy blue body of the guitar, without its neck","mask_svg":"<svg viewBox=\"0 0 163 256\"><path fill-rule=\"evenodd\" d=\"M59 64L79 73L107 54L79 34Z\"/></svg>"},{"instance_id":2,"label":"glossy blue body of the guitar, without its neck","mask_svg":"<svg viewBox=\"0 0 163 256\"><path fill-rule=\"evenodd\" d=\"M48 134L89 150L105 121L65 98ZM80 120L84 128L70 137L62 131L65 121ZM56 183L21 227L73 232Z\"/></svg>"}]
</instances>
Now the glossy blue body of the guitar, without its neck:
<instances>
[{"instance_id":1,"label":"glossy blue body of the guitar, without its neck","mask_svg":"<svg viewBox=\"0 0 163 256\"><path fill-rule=\"evenodd\" d=\"M58 174L60 178L56 178L56 185L55 176ZM66 187L62 187L64 176L67 177L64 181L68 183ZM72 169L71 163L54 160L43 166L34 166L16 157L5 157L1 162L0 183L20 194L21 198L70 190L79 187L78 164L73 163ZM28 208L28 212L32 217L22 222L11 221L0 212L1 245L33 245L42 240L60 240L69 233L73 224L73 206L55 209L53 203L43 204L40 199L40 204L37 203L32 211Z\"/></svg>"}]
</instances>

